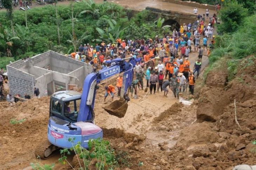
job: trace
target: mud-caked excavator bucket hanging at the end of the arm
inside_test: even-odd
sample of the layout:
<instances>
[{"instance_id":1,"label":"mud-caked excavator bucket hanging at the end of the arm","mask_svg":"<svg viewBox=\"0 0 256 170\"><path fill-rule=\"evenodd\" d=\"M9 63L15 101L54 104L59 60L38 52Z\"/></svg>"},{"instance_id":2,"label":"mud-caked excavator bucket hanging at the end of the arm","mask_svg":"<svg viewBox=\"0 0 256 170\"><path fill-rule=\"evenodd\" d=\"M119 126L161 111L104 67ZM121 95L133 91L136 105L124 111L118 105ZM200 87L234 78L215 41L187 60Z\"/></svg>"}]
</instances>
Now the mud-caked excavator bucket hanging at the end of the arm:
<instances>
[{"instance_id":1,"label":"mud-caked excavator bucket hanging at the end of the arm","mask_svg":"<svg viewBox=\"0 0 256 170\"><path fill-rule=\"evenodd\" d=\"M124 117L128 108L128 104L126 102L116 100L109 104L108 106L103 107L109 114L122 118Z\"/></svg>"}]
</instances>

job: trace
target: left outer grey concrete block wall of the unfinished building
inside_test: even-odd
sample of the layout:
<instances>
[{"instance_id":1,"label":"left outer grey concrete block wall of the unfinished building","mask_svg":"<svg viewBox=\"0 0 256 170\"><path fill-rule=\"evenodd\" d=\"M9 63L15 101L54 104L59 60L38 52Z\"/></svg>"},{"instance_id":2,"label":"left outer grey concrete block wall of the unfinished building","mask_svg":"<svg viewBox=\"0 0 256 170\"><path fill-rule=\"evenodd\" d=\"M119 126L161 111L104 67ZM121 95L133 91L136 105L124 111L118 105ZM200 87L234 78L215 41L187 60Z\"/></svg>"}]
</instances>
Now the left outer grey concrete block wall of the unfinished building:
<instances>
[{"instance_id":1,"label":"left outer grey concrete block wall of the unfinished building","mask_svg":"<svg viewBox=\"0 0 256 170\"><path fill-rule=\"evenodd\" d=\"M10 65L7 65L7 74L10 94L20 94L21 97L24 97L25 94L34 95L35 76Z\"/></svg>"}]
</instances>

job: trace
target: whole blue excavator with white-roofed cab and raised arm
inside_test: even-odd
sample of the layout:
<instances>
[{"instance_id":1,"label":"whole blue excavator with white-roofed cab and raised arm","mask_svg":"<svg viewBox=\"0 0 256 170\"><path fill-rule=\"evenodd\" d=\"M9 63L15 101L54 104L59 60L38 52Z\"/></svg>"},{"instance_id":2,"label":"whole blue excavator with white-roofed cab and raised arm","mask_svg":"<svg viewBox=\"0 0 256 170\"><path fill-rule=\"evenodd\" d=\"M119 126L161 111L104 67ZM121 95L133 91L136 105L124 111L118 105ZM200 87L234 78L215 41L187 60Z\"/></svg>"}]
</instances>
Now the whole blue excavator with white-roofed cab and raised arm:
<instances>
[{"instance_id":1,"label":"whole blue excavator with white-roofed cab and raised arm","mask_svg":"<svg viewBox=\"0 0 256 170\"><path fill-rule=\"evenodd\" d=\"M119 114L118 117L124 116L128 107L127 101L129 101L126 92L133 80L133 68L136 61L133 57L117 58L107 60L106 64L109 67L86 76L82 94L77 91L58 91L51 96L47 130L48 141L42 142L36 147L36 157L40 156L41 159L47 159L54 150L71 148L78 142L83 148L88 148L90 139L102 138L102 129L94 124L94 102L96 90L99 88L97 84L120 73L123 74L121 99L124 102L121 100L114 101L115 104L110 104L110 107L105 110L113 115L115 115L115 111L121 111L122 116ZM74 139L73 142L68 141L70 138Z\"/></svg>"}]
</instances>

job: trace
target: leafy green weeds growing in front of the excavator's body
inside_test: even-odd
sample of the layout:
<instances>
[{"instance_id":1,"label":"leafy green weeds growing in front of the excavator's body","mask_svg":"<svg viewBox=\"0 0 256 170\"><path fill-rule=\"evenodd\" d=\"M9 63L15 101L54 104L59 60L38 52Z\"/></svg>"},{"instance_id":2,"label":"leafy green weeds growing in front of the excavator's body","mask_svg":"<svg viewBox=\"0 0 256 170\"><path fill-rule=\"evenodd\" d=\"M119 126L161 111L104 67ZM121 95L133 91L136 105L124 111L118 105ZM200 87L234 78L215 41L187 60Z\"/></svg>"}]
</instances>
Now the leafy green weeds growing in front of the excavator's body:
<instances>
[{"instance_id":1,"label":"leafy green weeds growing in front of the excavator's body","mask_svg":"<svg viewBox=\"0 0 256 170\"><path fill-rule=\"evenodd\" d=\"M74 139L69 139L69 142L73 143ZM81 143L74 145L70 150L74 151L76 156L83 162L79 162L80 168L90 169L89 166L94 166L99 170L112 170L115 169L118 164L115 158L114 149L109 145L109 142L103 139L90 139L88 142L88 150L81 146ZM70 163L67 161L65 154L70 154L68 149L62 149L60 151L62 157L59 158L59 162L62 164ZM96 160L96 161L94 161ZM71 165L70 165L71 166ZM91 167L92 168L92 167Z\"/></svg>"}]
</instances>

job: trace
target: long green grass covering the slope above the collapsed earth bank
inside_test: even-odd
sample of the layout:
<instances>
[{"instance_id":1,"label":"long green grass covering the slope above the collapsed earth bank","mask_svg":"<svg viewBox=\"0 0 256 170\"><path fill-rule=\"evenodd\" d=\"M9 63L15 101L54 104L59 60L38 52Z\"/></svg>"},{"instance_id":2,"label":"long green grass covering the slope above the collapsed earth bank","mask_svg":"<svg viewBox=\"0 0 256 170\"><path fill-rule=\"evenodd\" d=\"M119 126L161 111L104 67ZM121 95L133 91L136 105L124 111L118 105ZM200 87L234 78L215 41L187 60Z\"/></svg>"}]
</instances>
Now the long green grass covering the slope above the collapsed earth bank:
<instances>
[{"instance_id":1,"label":"long green grass covering the slope above the collapsed earth bank","mask_svg":"<svg viewBox=\"0 0 256 170\"><path fill-rule=\"evenodd\" d=\"M215 49L209 56L209 67L204 73L204 80L211 70L221 64L219 60L226 58L228 59L228 80L231 81L240 67L245 68L253 64L254 58L246 61L241 59L256 53L256 14L247 17L243 25L233 34L216 36L215 40Z\"/></svg>"}]
</instances>

